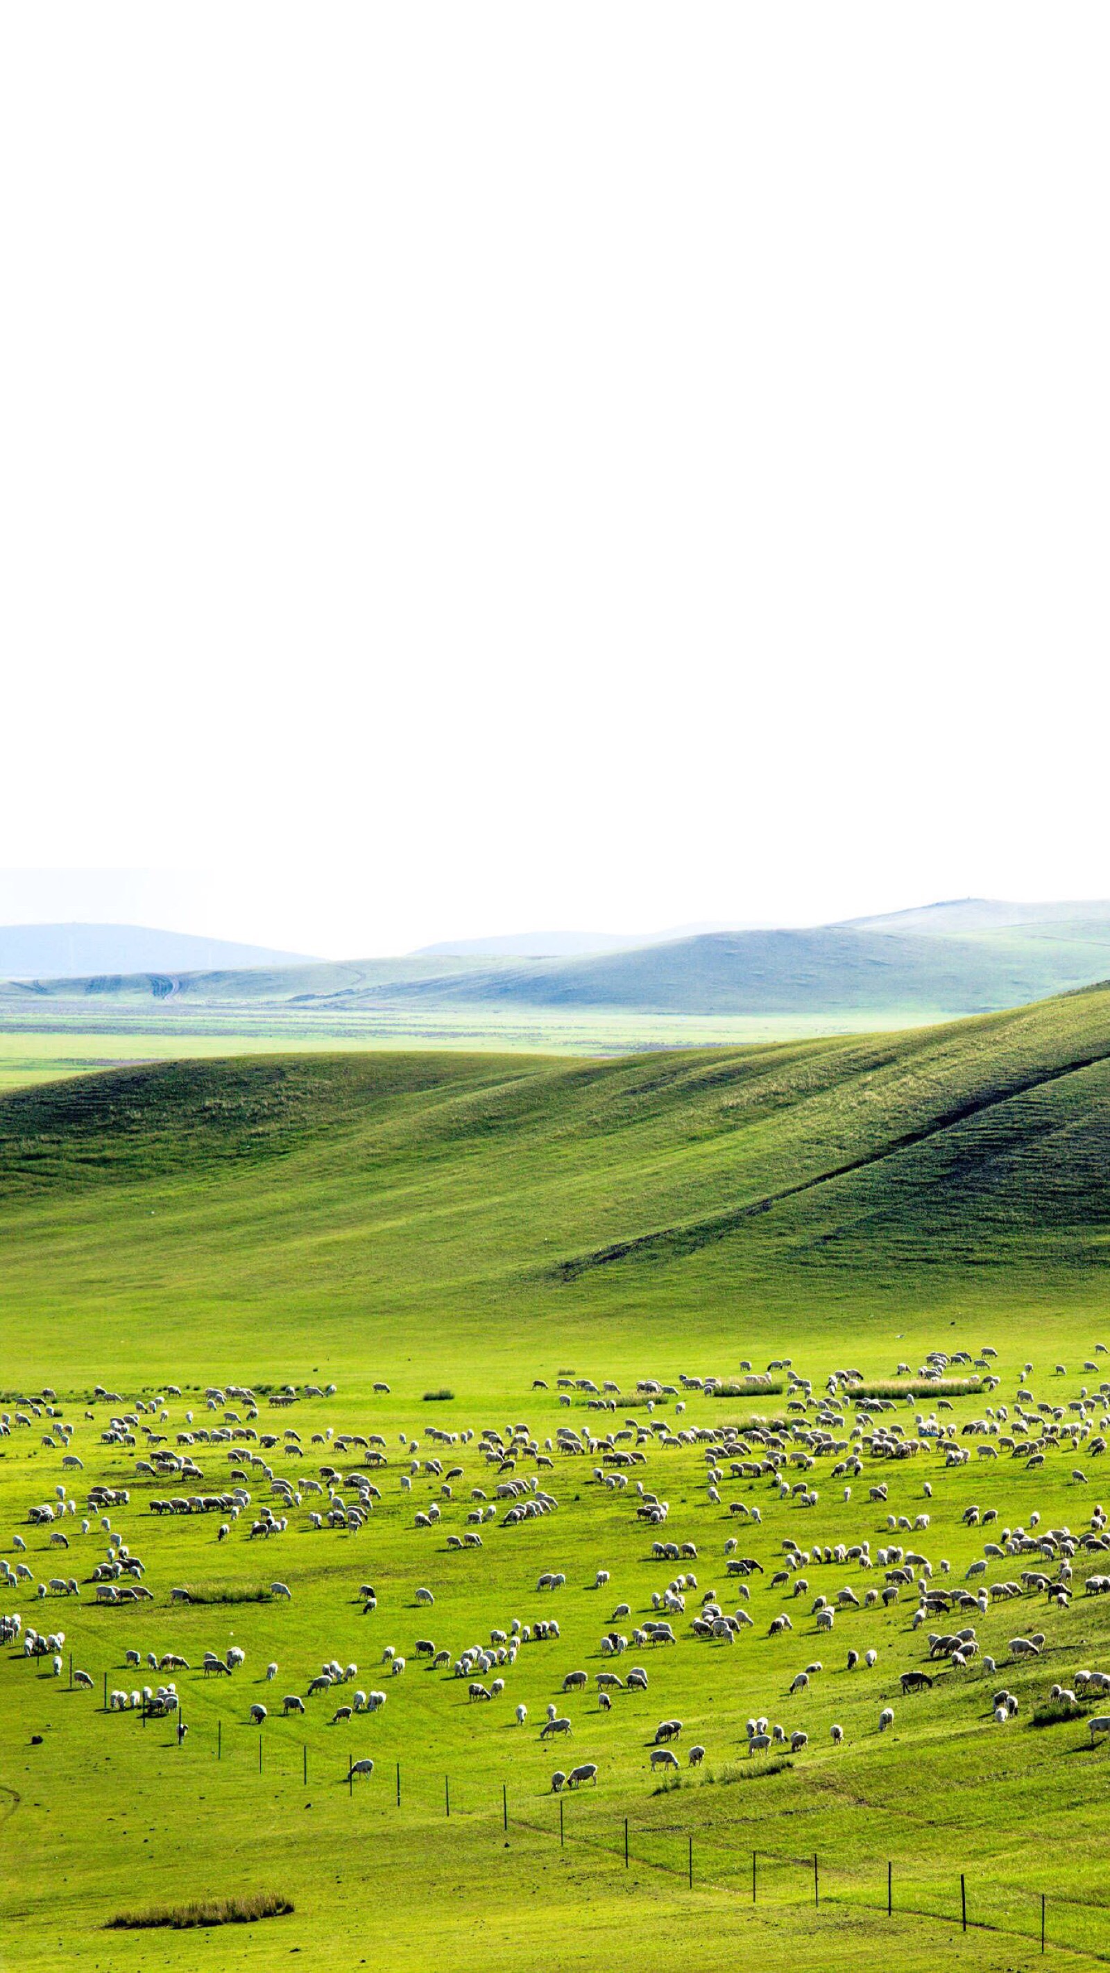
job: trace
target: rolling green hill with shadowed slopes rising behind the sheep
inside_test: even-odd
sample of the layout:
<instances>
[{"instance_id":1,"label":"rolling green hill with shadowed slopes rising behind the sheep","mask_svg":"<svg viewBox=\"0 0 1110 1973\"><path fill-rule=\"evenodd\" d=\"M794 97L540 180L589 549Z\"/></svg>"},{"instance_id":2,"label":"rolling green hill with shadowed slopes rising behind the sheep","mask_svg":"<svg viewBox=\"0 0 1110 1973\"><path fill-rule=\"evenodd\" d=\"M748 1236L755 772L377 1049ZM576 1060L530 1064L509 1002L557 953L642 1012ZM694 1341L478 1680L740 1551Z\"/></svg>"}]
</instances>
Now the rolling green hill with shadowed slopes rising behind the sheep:
<instances>
[{"instance_id":1,"label":"rolling green hill with shadowed slopes rising behind the sheep","mask_svg":"<svg viewBox=\"0 0 1110 1973\"><path fill-rule=\"evenodd\" d=\"M743 1282L1094 1280L1110 988L942 1028L619 1061L286 1056L0 1101L0 1340L35 1306L225 1300L250 1357L306 1308L353 1346L436 1306L593 1320ZM700 1286L698 1286L700 1282ZM787 1292L787 1290L783 1290ZM795 1290L789 1290L795 1292ZM106 1302L103 1300L106 1298ZM260 1334L254 1336L254 1322ZM154 1355L160 1338L150 1338Z\"/></svg>"}]
</instances>

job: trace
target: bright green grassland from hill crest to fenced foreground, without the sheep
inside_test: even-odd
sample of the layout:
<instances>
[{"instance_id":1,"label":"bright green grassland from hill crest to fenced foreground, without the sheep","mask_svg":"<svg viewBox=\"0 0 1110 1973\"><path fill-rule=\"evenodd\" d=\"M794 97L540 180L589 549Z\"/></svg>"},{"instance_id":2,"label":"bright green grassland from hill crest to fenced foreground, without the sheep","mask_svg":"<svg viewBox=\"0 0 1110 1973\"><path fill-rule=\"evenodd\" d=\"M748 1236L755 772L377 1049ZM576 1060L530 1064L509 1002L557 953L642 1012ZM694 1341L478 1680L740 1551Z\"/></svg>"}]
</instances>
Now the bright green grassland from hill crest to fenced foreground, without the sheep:
<instances>
[{"instance_id":1,"label":"bright green grassland from hill crest to fenced foreground, without the sheep","mask_svg":"<svg viewBox=\"0 0 1110 1973\"><path fill-rule=\"evenodd\" d=\"M834 1600L852 1584L864 1598L883 1584L883 1569L814 1561L798 1598L793 1582L771 1588L771 1576L787 1539L804 1549L867 1539L871 1555L917 1541L935 1580L962 1584L992 1533L964 1525L972 1501L998 1509L998 1529L1029 1529L1035 1513L1043 1527L1090 1525L1102 1407L1075 1448L1047 1444L1033 1468L1027 1454L1045 1417L1078 1423L1069 1407L1110 1377L1098 1352L1110 1344L1108 1152L1102 988L903 1034L621 1060L459 1050L191 1060L6 1095L0 1409L14 1413L16 1399L53 1387L85 1468L63 1476L61 1446L43 1444L51 1421L24 1407L32 1425L0 1438L0 1555L26 1561L35 1578L57 1571L85 1584L106 1547L99 1519L81 1535L81 1513L67 1517L61 1555L28 1525L28 1509L59 1484L81 1507L95 1480L126 1484L130 1503L110 1509L112 1529L142 1557L154 1600L97 1608L85 1586L77 1602L39 1604L26 1586L0 1592L0 1610L20 1608L41 1630L61 1626L65 1663L73 1649L95 1685L69 1691L49 1661L0 1651L0 1965L262 1969L298 1947L306 1969L463 1973L479 1959L631 1969L678 1957L718 1965L737 1953L769 1967L925 1967L948 1955L1002 1969L1037 1953L1041 1892L1047 1957L1104 1963L1110 1748L1090 1748L1082 1718L1031 1724L1053 1683L1069 1685L1080 1665L1110 1671L1110 1596L1082 1594L1098 1555L1076 1553L1071 1610L1025 1594L976 1616L998 1675L972 1659L966 1671L940 1669L935 1689L911 1699L897 1681L925 1665L927 1636L911 1628L913 1592L889 1608L842 1612L826 1636L810 1614L814 1594ZM519 1462L515 1476L534 1474L558 1511L507 1527L499 1503L483 1547L455 1551L448 1535L467 1527L471 1490L493 1498L501 1478L477 1436L442 1454L444 1466L463 1468L450 1499L442 1476L410 1476L412 1442L420 1460L438 1450L432 1426L505 1434L526 1423L542 1450L572 1423L593 1434L629 1430L635 1448L625 1419L645 1428L666 1421L678 1438L753 1413L808 1426L816 1417L812 1405L787 1413L791 1393L680 1391L649 1413L635 1391L645 1377L680 1387L682 1375L735 1379L743 1361L763 1369L791 1357L820 1399L838 1367L893 1379L899 1361L917 1373L927 1350L978 1357L982 1346L998 1350L998 1391L937 1407L968 1464L944 1466L933 1438L897 1462L864 1448L850 1501L830 1458L804 1474L798 1460L789 1466L791 1484L816 1488L810 1507L797 1494L781 1498L771 1474L731 1478L728 1466L714 1501L706 1446L664 1446L651 1432L625 1490L595 1480L595 1468L613 1472L601 1452L552 1454L550 1470ZM590 1409L582 1391L560 1405L560 1371L615 1383L617 1411ZM532 1389L536 1379L546 1389ZM136 1476L142 1432L136 1448L106 1446L101 1434L112 1413L166 1395L170 1381L181 1387L158 1425L170 1446L187 1430L187 1411L205 1428L225 1409L244 1419L237 1401L211 1413L203 1391L246 1383L258 1393L250 1428L278 1436L268 1458L292 1480L317 1478L329 1460L349 1472L367 1456L349 1448L335 1458L327 1442L312 1442L315 1432L381 1434L388 1464L369 1474L381 1499L367 1527L312 1527L313 1496L290 1511L286 1533L264 1541L250 1539L250 1513L223 1543L219 1513L152 1515L150 1496L189 1488ZM268 1391L284 1383L337 1391L280 1411ZM97 1385L118 1399L95 1401ZM453 1399L426 1403L424 1391L440 1387ZM1061 1419L1037 1413L1011 1450L1002 1440L1019 1389L1033 1393L1029 1411L1051 1405ZM988 1403L1007 1407L998 1432L960 1436L968 1421L986 1421ZM911 1436L931 1409L917 1397L883 1421ZM848 1405L836 1436L862 1446L856 1421ZM300 1432L302 1458L282 1450L286 1428ZM980 1444L1000 1458L980 1458ZM205 1492L229 1484L227 1446L191 1450ZM235 1450L254 1448L239 1440ZM254 1511L268 1486L241 1470ZM670 1503L662 1527L637 1521L637 1478ZM879 1480L887 1503L869 1499ZM416 1527L432 1501L442 1519ZM759 1525L737 1521L731 1501L759 1507ZM927 1531L887 1531L887 1513L913 1523L923 1511ZM655 1561L660 1537L694 1543L696 1559ZM763 1565L747 1604L726 1576L729 1537ZM986 1580L1015 1578L1027 1565L994 1559ZM550 1569L566 1572L566 1586L538 1590ZM593 1586L597 1569L609 1571L603 1588ZM698 1590L674 1618L678 1644L605 1659L601 1634L631 1632L653 1614L653 1592L684 1571ZM244 1590L276 1578L290 1602L170 1602L177 1584ZM363 1582L377 1590L371 1614ZM418 1586L432 1590L432 1608L416 1604ZM708 1588L722 1608L753 1618L733 1647L690 1630ZM631 1614L611 1622L621 1602ZM769 1638L781 1610L795 1630ZM560 1638L530 1642L499 1667L507 1689L489 1705L467 1703L465 1679L414 1653L418 1638L455 1655L513 1618L530 1626L552 1616ZM937 1628L948 1622L970 1618ZM1011 1663L1007 1640L1031 1630L1045 1632L1043 1655ZM205 1679L201 1653L229 1644L246 1651L244 1667ZM386 1677L386 1645L406 1657L402 1677ZM124 1669L128 1647L189 1659L177 1673L183 1746L172 1720L144 1726L132 1711L103 1711L104 1675L108 1687L158 1683ZM875 1665L848 1671L850 1647L873 1649ZM306 1699L304 1720L280 1718L280 1695L304 1697L331 1657L357 1663L357 1679ZM280 1665L274 1683L262 1677L270 1659ZM789 1695L816 1661L824 1669L808 1689ZM593 1675L609 1663L619 1673L643 1663L649 1691L617 1693L603 1713ZM590 1693L564 1701L572 1669L590 1673ZM355 1685L384 1689L386 1705L331 1724ZM1006 1726L992 1720L1000 1685L1019 1701ZM246 1717L254 1701L270 1709L260 1732ZM552 1701L574 1722L570 1746L538 1740ZM517 1703L528 1707L522 1728ZM885 1705L895 1724L879 1736ZM777 1772L745 1754L745 1720L759 1715L808 1732ZM684 1722L678 1788L649 1772L651 1734L668 1717ZM844 1726L842 1748L832 1722ZM706 1746L702 1770L686 1766L694 1742ZM371 1780L347 1786L351 1756L375 1760ZM550 1776L584 1760L597 1762L597 1788L566 1801L560 1845ZM118 1912L258 1892L288 1896L294 1914L219 1932L103 1930Z\"/></svg>"}]
</instances>

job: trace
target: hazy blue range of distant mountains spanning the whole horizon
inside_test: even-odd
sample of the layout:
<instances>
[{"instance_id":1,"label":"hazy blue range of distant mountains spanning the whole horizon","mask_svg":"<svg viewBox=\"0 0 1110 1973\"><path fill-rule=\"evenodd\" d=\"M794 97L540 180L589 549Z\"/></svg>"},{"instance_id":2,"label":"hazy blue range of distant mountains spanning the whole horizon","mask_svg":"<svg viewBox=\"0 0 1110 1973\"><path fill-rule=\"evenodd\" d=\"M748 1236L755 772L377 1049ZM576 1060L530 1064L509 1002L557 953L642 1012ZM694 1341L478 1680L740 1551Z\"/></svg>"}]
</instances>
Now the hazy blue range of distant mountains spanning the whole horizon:
<instances>
[{"instance_id":1,"label":"hazy blue range of distant mountains spanning the whole horizon","mask_svg":"<svg viewBox=\"0 0 1110 1973\"><path fill-rule=\"evenodd\" d=\"M1041 915L1031 917L1035 912ZM130 971L93 965L81 975L69 965L35 969L26 963L30 941L20 953L24 965L4 963L4 939L32 931L65 939L69 965L95 947L99 933L128 933L130 951L140 947L144 963ZM81 935L89 935L85 945ZM534 935L524 939L534 943ZM116 937L114 951L120 943ZM229 951L237 955L231 963L223 959ZM219 955L215 965L205 965L209 953ZM20 1004L34 1000L41 1008L53 998L69 1004L65 1018L77 1020L79 1002L130 1002L132 1010L154 1002L173 1020L193 1012L203 1022L209 1010L235 1010L276 1028L306 1016L384 1018L396 1028L440 1014L479 1026L485 1018L534 1022L542 1014L905 1026L996 1012L1108 981L1110 904L964 898L840 925L708 931L601 953L426 951L365 961L296 961L142 927L8 927L0 929L2 971L22 975L0 981L0 1016L8 1008L16 1020L24 1018ZM450 1020L444 1032L451 1032Z\"/></svg>"}]
</instances>

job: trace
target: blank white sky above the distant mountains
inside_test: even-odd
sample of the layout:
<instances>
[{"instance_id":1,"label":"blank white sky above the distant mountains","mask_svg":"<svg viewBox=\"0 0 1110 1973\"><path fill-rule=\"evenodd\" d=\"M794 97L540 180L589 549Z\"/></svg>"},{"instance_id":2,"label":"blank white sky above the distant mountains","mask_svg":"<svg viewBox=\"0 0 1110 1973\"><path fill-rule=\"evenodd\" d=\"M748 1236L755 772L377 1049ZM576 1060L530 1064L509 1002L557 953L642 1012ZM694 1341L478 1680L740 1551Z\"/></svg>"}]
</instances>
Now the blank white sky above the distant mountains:
<instances>
[{"instance_id":1,"label":"blank white sky above the distant mountains","mask_svg":"<svg viewBox=\"0 0 1110 1973\"><path fill-rule=\"evenodd\" d=\"M2 915L1110 894L1108 53L1082 0L8 8L0 862L170 874Z\"/></svg>"}]
</instances>

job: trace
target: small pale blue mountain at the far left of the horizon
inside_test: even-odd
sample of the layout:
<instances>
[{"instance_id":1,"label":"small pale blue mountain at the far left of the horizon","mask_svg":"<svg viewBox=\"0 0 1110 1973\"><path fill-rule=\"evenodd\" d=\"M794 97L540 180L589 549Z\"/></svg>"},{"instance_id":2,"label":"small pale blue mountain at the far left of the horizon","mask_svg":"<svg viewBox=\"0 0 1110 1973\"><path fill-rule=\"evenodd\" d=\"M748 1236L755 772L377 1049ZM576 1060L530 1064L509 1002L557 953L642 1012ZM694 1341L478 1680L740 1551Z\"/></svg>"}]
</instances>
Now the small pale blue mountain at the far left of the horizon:
<instances>
[{"instance_id":1,"label":"small pale blue mountain at the far left of the horizon","mask_svg":"<svg viewBox=\"0 0 1110 1973\"><path fill-rule=\"evenodd\" d=\"M0 979L87 979L296 965L304 953L205 939L150 925L0 925Z\"/></svg>"}]
</instances>

